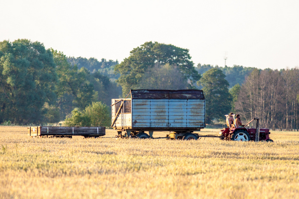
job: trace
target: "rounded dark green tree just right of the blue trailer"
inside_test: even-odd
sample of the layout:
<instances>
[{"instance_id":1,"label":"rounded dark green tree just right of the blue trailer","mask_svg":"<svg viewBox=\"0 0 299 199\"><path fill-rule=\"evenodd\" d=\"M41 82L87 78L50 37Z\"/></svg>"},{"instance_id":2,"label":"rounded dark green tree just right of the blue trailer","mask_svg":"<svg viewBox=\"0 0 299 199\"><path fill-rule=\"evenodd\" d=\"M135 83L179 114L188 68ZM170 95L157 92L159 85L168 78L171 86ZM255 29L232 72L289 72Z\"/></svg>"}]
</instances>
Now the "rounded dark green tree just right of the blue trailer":
<instances>
[{"instance_id":1,"label":"rounded dark green tree just right of the blue trailer","mask_svg":"<svg viewBox=\"0 0 299 199\"><path fill-rule=\"evenodd\" d=\"M220 69L213 68L202 75L198 86L206 99L206 123L210 124L214 119L222 119L231 110L232 97L229 93L229 83Z\"/></svg>"}]
</instances>

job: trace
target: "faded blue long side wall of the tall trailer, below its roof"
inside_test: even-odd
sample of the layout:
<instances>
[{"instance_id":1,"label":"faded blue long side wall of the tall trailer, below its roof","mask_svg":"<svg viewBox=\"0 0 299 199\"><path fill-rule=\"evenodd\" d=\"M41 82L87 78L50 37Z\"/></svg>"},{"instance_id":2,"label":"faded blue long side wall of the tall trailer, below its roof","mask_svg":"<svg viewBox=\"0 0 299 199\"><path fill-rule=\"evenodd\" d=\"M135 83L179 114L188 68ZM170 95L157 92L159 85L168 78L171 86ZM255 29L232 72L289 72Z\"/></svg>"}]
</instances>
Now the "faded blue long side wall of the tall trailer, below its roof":
<instances>
[{"instance_id":1,"label":"faded blue long side wall of the tall trailer, below its roof","mask_svg":"<svg viewBox=\"0 0 299 199\"><path fill-rule=\"evenodd\" d=\"M204 100L132 100L132 128L204 127Z\"/></svg>"}]
</instances>

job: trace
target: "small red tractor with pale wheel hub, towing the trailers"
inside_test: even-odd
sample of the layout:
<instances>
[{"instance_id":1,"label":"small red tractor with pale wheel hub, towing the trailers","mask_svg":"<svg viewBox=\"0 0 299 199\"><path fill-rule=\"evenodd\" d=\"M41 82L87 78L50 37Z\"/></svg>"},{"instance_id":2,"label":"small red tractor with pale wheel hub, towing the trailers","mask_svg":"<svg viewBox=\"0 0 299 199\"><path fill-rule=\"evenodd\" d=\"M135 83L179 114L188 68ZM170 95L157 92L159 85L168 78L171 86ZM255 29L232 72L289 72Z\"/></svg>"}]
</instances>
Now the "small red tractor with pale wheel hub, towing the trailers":
<instances>
[{"instance_id":1,"label":"small red tractor with pale wheel hub, towing the trailers","mask_svg":"<svg viewBox=\"0 0 299 199\"><path fill-rule=\"evenodd\" d=\"M229 115L225 115L228 117ZM235 115L233 115L235 121ZM249 128L249 124L256 120L256 128L252 126ZM246 127L247 126L247 127ZM254 118L245 125L242 125L238 128L232 124L232 127L223 128L220 132L220 139L222 140L234 140L234 141L266 141L273 142L270 139L270 131L268 128L260 129L260 118Z\"/></svg>"}]
</instances>

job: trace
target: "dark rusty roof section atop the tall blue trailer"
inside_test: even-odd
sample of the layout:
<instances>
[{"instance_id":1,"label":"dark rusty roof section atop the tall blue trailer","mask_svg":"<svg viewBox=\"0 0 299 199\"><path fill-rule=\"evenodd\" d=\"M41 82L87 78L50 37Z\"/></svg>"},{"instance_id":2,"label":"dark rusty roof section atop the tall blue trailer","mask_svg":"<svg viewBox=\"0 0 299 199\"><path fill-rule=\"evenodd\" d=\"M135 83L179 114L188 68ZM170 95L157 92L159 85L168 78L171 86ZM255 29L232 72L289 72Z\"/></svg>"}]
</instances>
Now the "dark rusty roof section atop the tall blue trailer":
<instances>
[{"instance_id":1,"label":"dark rusty roof section atop the tall blue trailer","mask_svg":"<svg viewBox=\"0 0 299 199\"><path fill-rule=\"evenodd\" d=\"M201 90L131 90L130 93L132 99L205 99Z\"/></svg>"}]
</instances>

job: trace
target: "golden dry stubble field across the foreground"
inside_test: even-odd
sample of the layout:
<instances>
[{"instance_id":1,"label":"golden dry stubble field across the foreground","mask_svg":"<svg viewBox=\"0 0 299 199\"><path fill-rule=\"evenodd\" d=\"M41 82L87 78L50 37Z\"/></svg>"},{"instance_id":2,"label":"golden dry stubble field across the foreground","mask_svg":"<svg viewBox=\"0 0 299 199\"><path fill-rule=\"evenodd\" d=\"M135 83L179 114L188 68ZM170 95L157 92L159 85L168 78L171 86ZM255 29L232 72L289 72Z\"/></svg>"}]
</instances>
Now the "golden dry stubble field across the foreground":
<instances>
[{"instance_id":1,"label":"golden dry stubble field across the foreground","mask_svg":"<svg viewBox=\"0 0 299 199\"><path fill-rule=\"evenodd\" d=\"M299 132L271 138L30 138L1 126L0 198L299 198Z\"/></svg>"}]
</instances>

